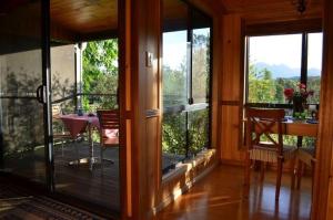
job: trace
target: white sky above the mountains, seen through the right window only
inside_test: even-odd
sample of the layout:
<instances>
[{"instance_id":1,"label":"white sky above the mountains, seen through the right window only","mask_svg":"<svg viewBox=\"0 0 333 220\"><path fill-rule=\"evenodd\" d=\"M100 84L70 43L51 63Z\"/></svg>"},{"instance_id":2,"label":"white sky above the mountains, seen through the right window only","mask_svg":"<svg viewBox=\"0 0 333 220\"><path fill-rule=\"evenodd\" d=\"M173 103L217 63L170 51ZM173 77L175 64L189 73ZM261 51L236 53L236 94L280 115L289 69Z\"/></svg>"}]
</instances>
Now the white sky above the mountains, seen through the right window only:
<instances>
[{"instance_id":1,"label":"white sky above the mountains, seen through the right window only","mask_svg":"<svg viewBox=\"0 0 333 220\"><path fill-rule=\"evenodd\" d=\"M301 66L302 35L287 34L250 38L250 62L285 64L292 69ZM309 34L307 67L321 70L322 34Z\"/></svg>"}]
</instances>

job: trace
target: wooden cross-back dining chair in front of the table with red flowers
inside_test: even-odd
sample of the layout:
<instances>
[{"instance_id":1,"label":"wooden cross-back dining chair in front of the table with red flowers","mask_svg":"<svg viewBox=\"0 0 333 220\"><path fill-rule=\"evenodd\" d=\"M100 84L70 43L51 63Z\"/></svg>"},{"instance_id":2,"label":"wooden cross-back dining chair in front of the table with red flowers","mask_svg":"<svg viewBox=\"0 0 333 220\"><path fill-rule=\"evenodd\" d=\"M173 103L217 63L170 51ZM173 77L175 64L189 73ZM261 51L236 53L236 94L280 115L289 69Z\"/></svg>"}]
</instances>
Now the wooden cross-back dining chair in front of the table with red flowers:
<instances>
[{"instance_id":1,"label":"wooden cross-back dining chair in front of the table with red flowers","mask_svg":"<svg viewBox=\"0 0 333 220\"><path fill-rule=\"evenodd\" d=\"M275 188L275 200L280 197L280 187L282 178L283 163L291 159L295 163L296 146L283 145L283 134L285 125L284 109L264 109L246 108L246 157L245 157L245 181L244 197L249 198L250 192L250 172L252 161L261 161L262 180L264 166L266 163L278 164L278 177ZM278 135L274 138L273 134ZM292 166L292 167L293 167ZM292 185L294 182L294 172L292 174Z\"/></svg>"}]
</instances>

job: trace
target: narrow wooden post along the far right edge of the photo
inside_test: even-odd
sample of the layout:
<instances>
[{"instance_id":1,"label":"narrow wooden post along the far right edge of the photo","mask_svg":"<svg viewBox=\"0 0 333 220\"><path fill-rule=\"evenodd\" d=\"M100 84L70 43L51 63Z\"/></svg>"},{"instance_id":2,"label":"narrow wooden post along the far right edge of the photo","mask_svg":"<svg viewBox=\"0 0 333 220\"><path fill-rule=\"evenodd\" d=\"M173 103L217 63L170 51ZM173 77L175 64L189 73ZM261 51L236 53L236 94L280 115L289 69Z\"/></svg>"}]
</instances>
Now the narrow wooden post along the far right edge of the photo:
<instances>
[{"instance_id":1,"label":"narrow wooden post along the far right edge of the photo","mask_svg":"<svg viewBox=\"0 0 333 220\"><path fill-rule=\"evenodd\" d=\"M317 138L312 219L329 220L333 214L333 1L324 1L323 72L321 81L320 129Z\"/></svg>"}]
</instances>

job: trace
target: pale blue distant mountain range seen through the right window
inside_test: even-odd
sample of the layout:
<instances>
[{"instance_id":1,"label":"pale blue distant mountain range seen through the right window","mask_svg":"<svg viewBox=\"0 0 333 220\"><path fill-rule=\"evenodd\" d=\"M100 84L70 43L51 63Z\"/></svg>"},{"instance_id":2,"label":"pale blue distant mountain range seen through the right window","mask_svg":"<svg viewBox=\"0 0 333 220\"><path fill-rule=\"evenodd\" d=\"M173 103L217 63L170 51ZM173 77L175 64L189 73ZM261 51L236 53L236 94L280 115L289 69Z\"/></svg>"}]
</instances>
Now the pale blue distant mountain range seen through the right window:
<instances>
[{"instance_id":1,"label":"pale blue distant mountain range seen through the right window","mask_svg":"<svg viewBox=\"0 0 333 220\"><path fill-rule=\"evenodd\" d=\"M254 63L254 66L258 70L268 69L269 71L272 72L273 78L295 77L295 76L300 76L300 73L301 73L301 69L292 69L284 64L275 65L275 64L268 64L268 63L259 62L259 63ZM307 72L307 76L320 76L320 75L321 75L321 70L319 70L319 69L310 69Z\"/></svg>"}]
</instances>

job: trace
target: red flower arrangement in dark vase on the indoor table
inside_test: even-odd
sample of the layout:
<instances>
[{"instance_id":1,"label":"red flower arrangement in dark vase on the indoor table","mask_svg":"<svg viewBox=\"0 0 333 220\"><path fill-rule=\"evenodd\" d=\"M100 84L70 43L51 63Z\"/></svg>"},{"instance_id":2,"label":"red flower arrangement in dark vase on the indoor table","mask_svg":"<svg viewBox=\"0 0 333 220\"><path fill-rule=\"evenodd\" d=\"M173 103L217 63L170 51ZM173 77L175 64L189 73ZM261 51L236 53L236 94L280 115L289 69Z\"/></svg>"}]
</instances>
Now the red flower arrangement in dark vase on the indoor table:
<instances>
[{"instance_id":1,"label":"red flower arrangement in dark vase on the indoor table","mask_svg":"<svg viewBox=\"0 0 333 220\"><path fill-rule=\"evenodd\" d=\"M304 112L304 105L306 104L306 99L309 96L313 96L314 91L306 91L306 85L303 83L297 83L297 91L294 88L284 88L284 96L289 103L293 103L294 113Z\"/></svg>"}]
</instances>

